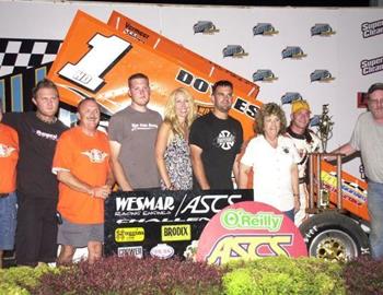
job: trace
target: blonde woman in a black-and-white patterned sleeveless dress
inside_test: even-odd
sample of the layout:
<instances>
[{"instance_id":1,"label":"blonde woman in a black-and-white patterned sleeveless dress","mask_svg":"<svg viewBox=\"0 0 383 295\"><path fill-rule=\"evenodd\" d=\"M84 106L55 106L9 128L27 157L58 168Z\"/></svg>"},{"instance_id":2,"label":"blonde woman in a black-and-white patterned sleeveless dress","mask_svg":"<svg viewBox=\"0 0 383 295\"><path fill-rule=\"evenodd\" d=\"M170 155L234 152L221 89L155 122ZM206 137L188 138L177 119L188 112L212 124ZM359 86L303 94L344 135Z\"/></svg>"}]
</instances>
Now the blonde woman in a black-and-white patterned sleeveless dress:
<instances>
[{"instance_id":1,"label":"blonde woman in a black-and-white patterned sleeveless dress","mask_svg":"<svg viewBox=\"0 0 383 295\"><path fill-rule=\"evenodd\" d=\"M190 93L182 87L174 90L165 106L165 118L155 142L155 160L164 190L193 188L188 134L195 115Z\"/></svg>"}]
</instances>

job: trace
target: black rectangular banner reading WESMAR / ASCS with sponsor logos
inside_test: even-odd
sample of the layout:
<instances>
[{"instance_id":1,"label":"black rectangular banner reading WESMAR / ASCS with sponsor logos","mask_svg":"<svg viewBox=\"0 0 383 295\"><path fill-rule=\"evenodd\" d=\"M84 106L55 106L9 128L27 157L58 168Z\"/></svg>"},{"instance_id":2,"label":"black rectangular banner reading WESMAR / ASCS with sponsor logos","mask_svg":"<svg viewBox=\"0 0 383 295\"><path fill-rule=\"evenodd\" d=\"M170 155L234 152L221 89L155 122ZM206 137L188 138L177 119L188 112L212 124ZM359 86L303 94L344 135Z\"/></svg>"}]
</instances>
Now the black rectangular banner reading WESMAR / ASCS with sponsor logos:
<instances>
[{"instance_id":1,"label":"black rectangular banner reading WESMAR / ASCS with sponsor logos","mask_svg":"<svg viewBox=\"0 0 383 295\"><path fill-rule=\"evenodd\" d=\"M105 255L185 257L210 219L253 190L114 192L105 202Z\"/></svg>"}]
</instances>

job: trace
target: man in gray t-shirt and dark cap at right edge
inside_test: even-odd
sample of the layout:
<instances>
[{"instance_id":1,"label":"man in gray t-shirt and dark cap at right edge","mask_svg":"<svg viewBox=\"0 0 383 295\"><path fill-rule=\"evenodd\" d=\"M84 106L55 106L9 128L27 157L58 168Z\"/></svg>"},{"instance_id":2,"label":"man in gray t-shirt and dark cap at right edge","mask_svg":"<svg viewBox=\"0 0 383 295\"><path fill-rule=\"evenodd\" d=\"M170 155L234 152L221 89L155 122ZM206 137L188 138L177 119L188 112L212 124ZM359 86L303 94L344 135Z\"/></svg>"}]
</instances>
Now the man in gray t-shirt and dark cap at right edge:
<instances>
[{"instance_id":1,"label":"man in gray t-shirt and dark cap at right edge","mask_svg":"<svg viewBox=\"0 0 383 295\"><path fill-rule=\"evenodd\" d=\"M383 83L368 91L369 110L360 115L350 142L334 152L345 155L360 151L368 177L370 245L374 259L383 258Z\"/></svg>"}]
</instances>

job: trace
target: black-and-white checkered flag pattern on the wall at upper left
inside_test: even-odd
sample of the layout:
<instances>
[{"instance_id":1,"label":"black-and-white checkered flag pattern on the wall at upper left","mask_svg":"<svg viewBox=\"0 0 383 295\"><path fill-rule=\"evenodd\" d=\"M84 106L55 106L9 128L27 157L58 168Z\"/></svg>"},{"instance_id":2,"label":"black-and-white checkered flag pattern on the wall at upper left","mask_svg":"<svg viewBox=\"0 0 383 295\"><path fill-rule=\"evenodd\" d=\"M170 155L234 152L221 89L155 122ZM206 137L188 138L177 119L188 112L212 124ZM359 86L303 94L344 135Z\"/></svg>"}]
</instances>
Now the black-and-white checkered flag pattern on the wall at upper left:
<instances>
[{"instance_id":1,"label":"black-and-white checkered flag pattern on the wall at upper left","mask_svg":"<svg viewBox=\"0 0 383 295\"><path fill-rule=\"evenodd\" d=\"M55 60L61 40L0 38L0 76Z\"/></svg>"}]
</instances>

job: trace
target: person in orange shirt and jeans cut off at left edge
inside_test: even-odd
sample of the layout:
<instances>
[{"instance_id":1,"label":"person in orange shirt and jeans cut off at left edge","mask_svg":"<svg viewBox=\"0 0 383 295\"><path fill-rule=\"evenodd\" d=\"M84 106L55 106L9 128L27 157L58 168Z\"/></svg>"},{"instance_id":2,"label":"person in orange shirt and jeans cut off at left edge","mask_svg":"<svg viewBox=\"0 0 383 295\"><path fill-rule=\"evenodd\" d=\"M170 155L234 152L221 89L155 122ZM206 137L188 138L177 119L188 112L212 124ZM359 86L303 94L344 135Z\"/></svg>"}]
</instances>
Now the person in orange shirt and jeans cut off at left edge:
<instances>
[{"instance_id":1,"label":"person in orange shirt and jeans cut off at left edge","mask_svg":"<svg viewBox=\"0 0 383 295\"><path fill-rule=\"evenodd\" d=\"M3 250L12 250L16 229L16 164L19 158L18 132L3 123L0 99L0 269Z\"/></svg>"}]
</instances>

